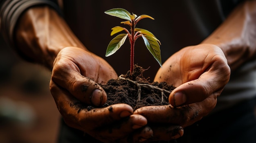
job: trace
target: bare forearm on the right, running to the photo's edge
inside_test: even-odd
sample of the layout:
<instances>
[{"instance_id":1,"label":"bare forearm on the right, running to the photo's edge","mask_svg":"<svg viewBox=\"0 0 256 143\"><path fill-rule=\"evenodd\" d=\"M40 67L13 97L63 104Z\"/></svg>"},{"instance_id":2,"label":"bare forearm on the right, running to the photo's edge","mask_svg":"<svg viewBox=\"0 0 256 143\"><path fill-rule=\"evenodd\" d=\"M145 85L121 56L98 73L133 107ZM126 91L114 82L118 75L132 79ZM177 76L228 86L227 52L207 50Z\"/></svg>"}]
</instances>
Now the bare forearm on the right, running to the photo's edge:
<instances>
[{"instance_id":1,"label":"bare forearm on the right, running to the photo's edge","mask_svg":"<svg viewBox=\"0 0 256 143\"><path fill-rule=\"evenodd\" d=\"M240 4L202 43L215 44L225 53L231 70L256 55L256 1Z\"/></svg>"}]
</instances>

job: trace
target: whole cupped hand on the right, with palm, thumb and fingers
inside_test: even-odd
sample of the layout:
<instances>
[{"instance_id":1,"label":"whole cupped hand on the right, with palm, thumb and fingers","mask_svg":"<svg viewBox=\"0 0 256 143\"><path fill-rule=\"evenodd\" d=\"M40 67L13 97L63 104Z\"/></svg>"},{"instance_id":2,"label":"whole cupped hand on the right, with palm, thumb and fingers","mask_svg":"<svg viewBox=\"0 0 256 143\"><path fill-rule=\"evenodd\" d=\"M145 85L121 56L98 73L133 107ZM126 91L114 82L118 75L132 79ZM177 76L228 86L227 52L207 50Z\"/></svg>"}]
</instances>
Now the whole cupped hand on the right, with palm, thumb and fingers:
<instances>
[{"instance_id":1,"label":"whole cupped hand on the right, with palm, thumb and fingers","mask_svg":"<svg viewBox=\"0 0 256 143\"><path fill-rule=\"evenodd\" d=\"M227 59L218 46L185 47L167 59L155 77L155 81L177 87L169 96L171 105L143 107L134 114L141 114L148 124L156 125L150 126L157 136L154 140L170 140L170 135L159 128L170 124L184 128L202 119L215 108L229 77Z\"/></svg>"}]
</instances>

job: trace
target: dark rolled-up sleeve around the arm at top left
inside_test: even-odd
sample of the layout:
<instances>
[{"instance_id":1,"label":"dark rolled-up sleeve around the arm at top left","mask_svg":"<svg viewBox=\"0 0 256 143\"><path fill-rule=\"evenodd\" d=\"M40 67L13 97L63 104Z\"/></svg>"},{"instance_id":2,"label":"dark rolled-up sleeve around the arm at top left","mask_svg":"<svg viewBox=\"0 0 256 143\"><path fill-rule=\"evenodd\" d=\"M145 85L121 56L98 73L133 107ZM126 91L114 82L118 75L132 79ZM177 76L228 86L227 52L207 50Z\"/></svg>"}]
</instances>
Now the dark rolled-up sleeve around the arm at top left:
<instances>
[{"instance_id":1,"label":"dark rolled-up sleeve around the arm at top left","mask_svg":"<svg viewBox=\"0 0 256 143\"><path fill-rule=\"evenodd\" d=\"M56 0L0 0L0 32L9 46L13 46L13 31L20 15L38 5L49 5L60 13Z\"/></svg>"}]
</instances>

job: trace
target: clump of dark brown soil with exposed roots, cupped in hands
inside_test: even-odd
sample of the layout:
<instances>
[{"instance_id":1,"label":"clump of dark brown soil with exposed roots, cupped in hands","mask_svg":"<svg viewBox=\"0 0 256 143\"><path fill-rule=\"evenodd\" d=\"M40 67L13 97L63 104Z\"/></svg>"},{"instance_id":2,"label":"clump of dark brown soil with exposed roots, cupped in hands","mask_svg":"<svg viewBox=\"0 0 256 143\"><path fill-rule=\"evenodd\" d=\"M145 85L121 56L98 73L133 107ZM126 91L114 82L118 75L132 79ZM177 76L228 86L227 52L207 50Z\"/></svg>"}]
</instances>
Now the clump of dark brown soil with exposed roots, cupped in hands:
<instances>
[{"instance_id":1,"label":"clump of dark brown soil with exposed roots, cupped in hands","mask_svg":"<svg viewBox=\"0 0 256 143\"><path fill-rule=\"evenodd\" d=\"M101 85L106 91L108 100L103 107L117 103L126 103L134 110L144 106L168 105L168 97L174 86L166 82L152 82L143 77L141 66L135 65L132 75L120 75L118 79L110 79L107 84Z\"/></svg>"}]
</instances>

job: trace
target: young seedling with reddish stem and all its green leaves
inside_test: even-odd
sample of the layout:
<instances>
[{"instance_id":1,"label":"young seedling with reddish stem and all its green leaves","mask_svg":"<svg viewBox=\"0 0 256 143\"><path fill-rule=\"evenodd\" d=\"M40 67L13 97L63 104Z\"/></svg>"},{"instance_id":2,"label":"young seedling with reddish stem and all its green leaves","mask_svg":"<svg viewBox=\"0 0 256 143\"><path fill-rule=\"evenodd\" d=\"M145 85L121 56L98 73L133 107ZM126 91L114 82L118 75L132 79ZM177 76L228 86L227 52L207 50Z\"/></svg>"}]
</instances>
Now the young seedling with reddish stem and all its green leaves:
<instances>
[{"instance_id":1,"label":"young seedling with reddish stem and all its green leaves","mask_svg":"<svg viewBox=\"0 0 256 143\"><path fill-rule=\"evenodd\" d=\"M157 60L159 65L162 67L162 62L161 62L161 51L160 51L160 41L153 35L150 31L147 31L145 29L140 29L140 28L135 28L136 24L139 22L139 20L143 18L150 18L154 20L149 15L140 15L137 16L136 14L130 14L128 11L125 9L110 9L108 11L105 11L106 14L116 16L118 18L128 20L121 22L121 24L127 24L130 26L130 32L121 26L115 26L111 30L112 32L110 35L114 35L116 33L119 33L121 31L125 31L126 34L119 34L117 37L113 38L110 43L108 44L108 48L106 51L106 57L114 54L125 42L126 38L129 37L130 40L130 74L133 72L133 66L134 66L134 46L135 46L135 41L137 40L138 37L142 37L144 40L144 43L150 53L153 55L153 57Z\"/></svg>"}]
</instances>

